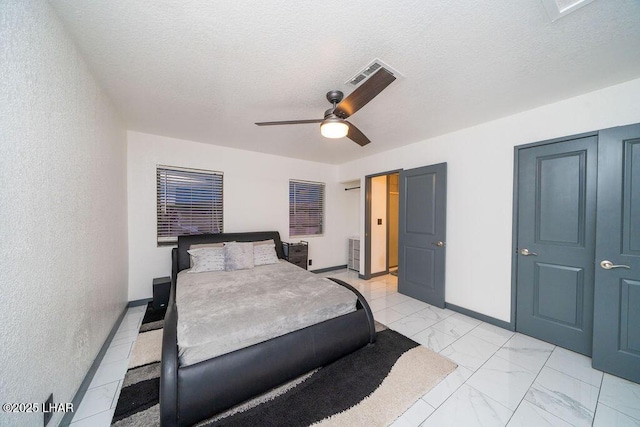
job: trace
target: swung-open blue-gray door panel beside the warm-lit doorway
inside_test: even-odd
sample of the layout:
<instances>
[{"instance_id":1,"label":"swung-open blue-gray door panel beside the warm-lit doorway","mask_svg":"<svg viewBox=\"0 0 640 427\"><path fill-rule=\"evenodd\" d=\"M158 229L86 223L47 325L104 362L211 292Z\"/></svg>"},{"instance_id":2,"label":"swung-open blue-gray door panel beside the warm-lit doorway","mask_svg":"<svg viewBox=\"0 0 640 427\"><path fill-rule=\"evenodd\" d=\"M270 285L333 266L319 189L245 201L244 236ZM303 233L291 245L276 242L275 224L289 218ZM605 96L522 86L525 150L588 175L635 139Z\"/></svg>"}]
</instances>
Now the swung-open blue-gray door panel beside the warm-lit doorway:
<instances>
[{"instance_id":1,"label":"swung-open blue-gray door panel beside the warm-lit doorway","mask_svg":"<svg viewBox=\"0 0 640 427\"><path fill-rule=\"evenodd\" d=\"M444 308L447 164L401 171L399 187L398 292Z\"/></svg>"}]
</instances>

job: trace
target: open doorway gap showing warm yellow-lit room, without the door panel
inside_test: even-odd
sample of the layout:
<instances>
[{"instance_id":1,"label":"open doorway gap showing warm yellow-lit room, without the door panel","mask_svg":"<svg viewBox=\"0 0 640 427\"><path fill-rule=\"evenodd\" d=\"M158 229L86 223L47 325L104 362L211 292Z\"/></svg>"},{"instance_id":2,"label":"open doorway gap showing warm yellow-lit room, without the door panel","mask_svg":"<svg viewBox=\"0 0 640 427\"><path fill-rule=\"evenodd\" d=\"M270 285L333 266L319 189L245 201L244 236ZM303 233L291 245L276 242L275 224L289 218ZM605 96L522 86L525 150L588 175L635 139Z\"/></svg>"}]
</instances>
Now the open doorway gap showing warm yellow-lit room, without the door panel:
<instances>
[{"instance_id":1,"label":"open doorway gap showing warm yellow-lit room, without the door panel","mask_svg":"<svg viewBox=\"0 0 640 427\"><path fill-rule=\"evenodd\" d=\"M398 274L398 184L398 171L366 177L365 278Z\"/></svg>"}]
</instances>

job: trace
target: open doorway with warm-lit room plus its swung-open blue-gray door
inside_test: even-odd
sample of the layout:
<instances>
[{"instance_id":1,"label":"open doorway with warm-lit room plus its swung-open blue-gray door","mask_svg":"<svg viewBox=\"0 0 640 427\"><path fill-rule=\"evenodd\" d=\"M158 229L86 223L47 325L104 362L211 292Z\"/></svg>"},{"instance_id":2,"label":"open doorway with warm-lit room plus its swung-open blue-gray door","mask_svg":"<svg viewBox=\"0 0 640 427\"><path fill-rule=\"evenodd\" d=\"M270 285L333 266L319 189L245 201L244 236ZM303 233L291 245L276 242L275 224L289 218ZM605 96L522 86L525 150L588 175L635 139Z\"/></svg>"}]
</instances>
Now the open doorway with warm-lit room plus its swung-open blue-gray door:
<instances>
[{"instance_id":1,"label":"open doorway with warm-lit room plus its swung-open blue-gray door","mask_svg":"<svg viewBox=\"0 0 640 427\"><path fill-rule=\"evenodd\" d=\"M397 173L394 186L390 176ZM397 225L388 213L395 189ZM396 244L398 292L444 308L446 202L446 163L366 176L363 278L389 273L394 261L389 243Z\"/></svg>"}]
</instances>

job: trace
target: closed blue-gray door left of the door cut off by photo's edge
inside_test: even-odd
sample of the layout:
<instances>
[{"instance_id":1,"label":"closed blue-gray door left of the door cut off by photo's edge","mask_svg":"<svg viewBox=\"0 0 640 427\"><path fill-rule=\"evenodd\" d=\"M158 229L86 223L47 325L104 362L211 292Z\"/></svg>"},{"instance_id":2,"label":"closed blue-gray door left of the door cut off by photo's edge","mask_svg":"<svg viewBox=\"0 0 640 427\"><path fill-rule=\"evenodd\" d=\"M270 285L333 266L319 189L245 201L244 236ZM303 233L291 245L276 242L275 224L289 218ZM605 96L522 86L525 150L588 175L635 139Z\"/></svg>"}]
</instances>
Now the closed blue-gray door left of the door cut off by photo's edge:
<instances>
[{"instance_id":1,"label":"closed blue-gray door left of the door cut off by photo's edge","mask_svg":"<svg viewBox=\"0 0 640 427\"><path fill-rule=\"evenodd\" d=\"M597 137L518 151L516 330L591 355Z\"/></svg>"}]
</instances>

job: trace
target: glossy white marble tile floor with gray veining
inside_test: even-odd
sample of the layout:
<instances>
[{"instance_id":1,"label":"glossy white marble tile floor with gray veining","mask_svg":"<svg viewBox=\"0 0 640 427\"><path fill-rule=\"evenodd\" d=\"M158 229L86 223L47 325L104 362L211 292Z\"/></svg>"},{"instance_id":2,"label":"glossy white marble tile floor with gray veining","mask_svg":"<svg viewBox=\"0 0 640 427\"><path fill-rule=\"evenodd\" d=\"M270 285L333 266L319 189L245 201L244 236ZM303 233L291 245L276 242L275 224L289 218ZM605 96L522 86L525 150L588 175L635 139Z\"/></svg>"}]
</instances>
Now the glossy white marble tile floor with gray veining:
<instances>
[{"instance_id":1,"label":"glossy white marble tile floor with gray veining","mask_svg":"<svg viewBox=\"0 0 640 427\"><path fill-rule=\"evenodd\" d=\"M393 427L640 427L640 384L592 369L585 356L399 294L395 276L324 275L356 287L380 323L458 364ZM143 315L127 311L71 426L110 424Z\"/></svg>"}]
</instances>

